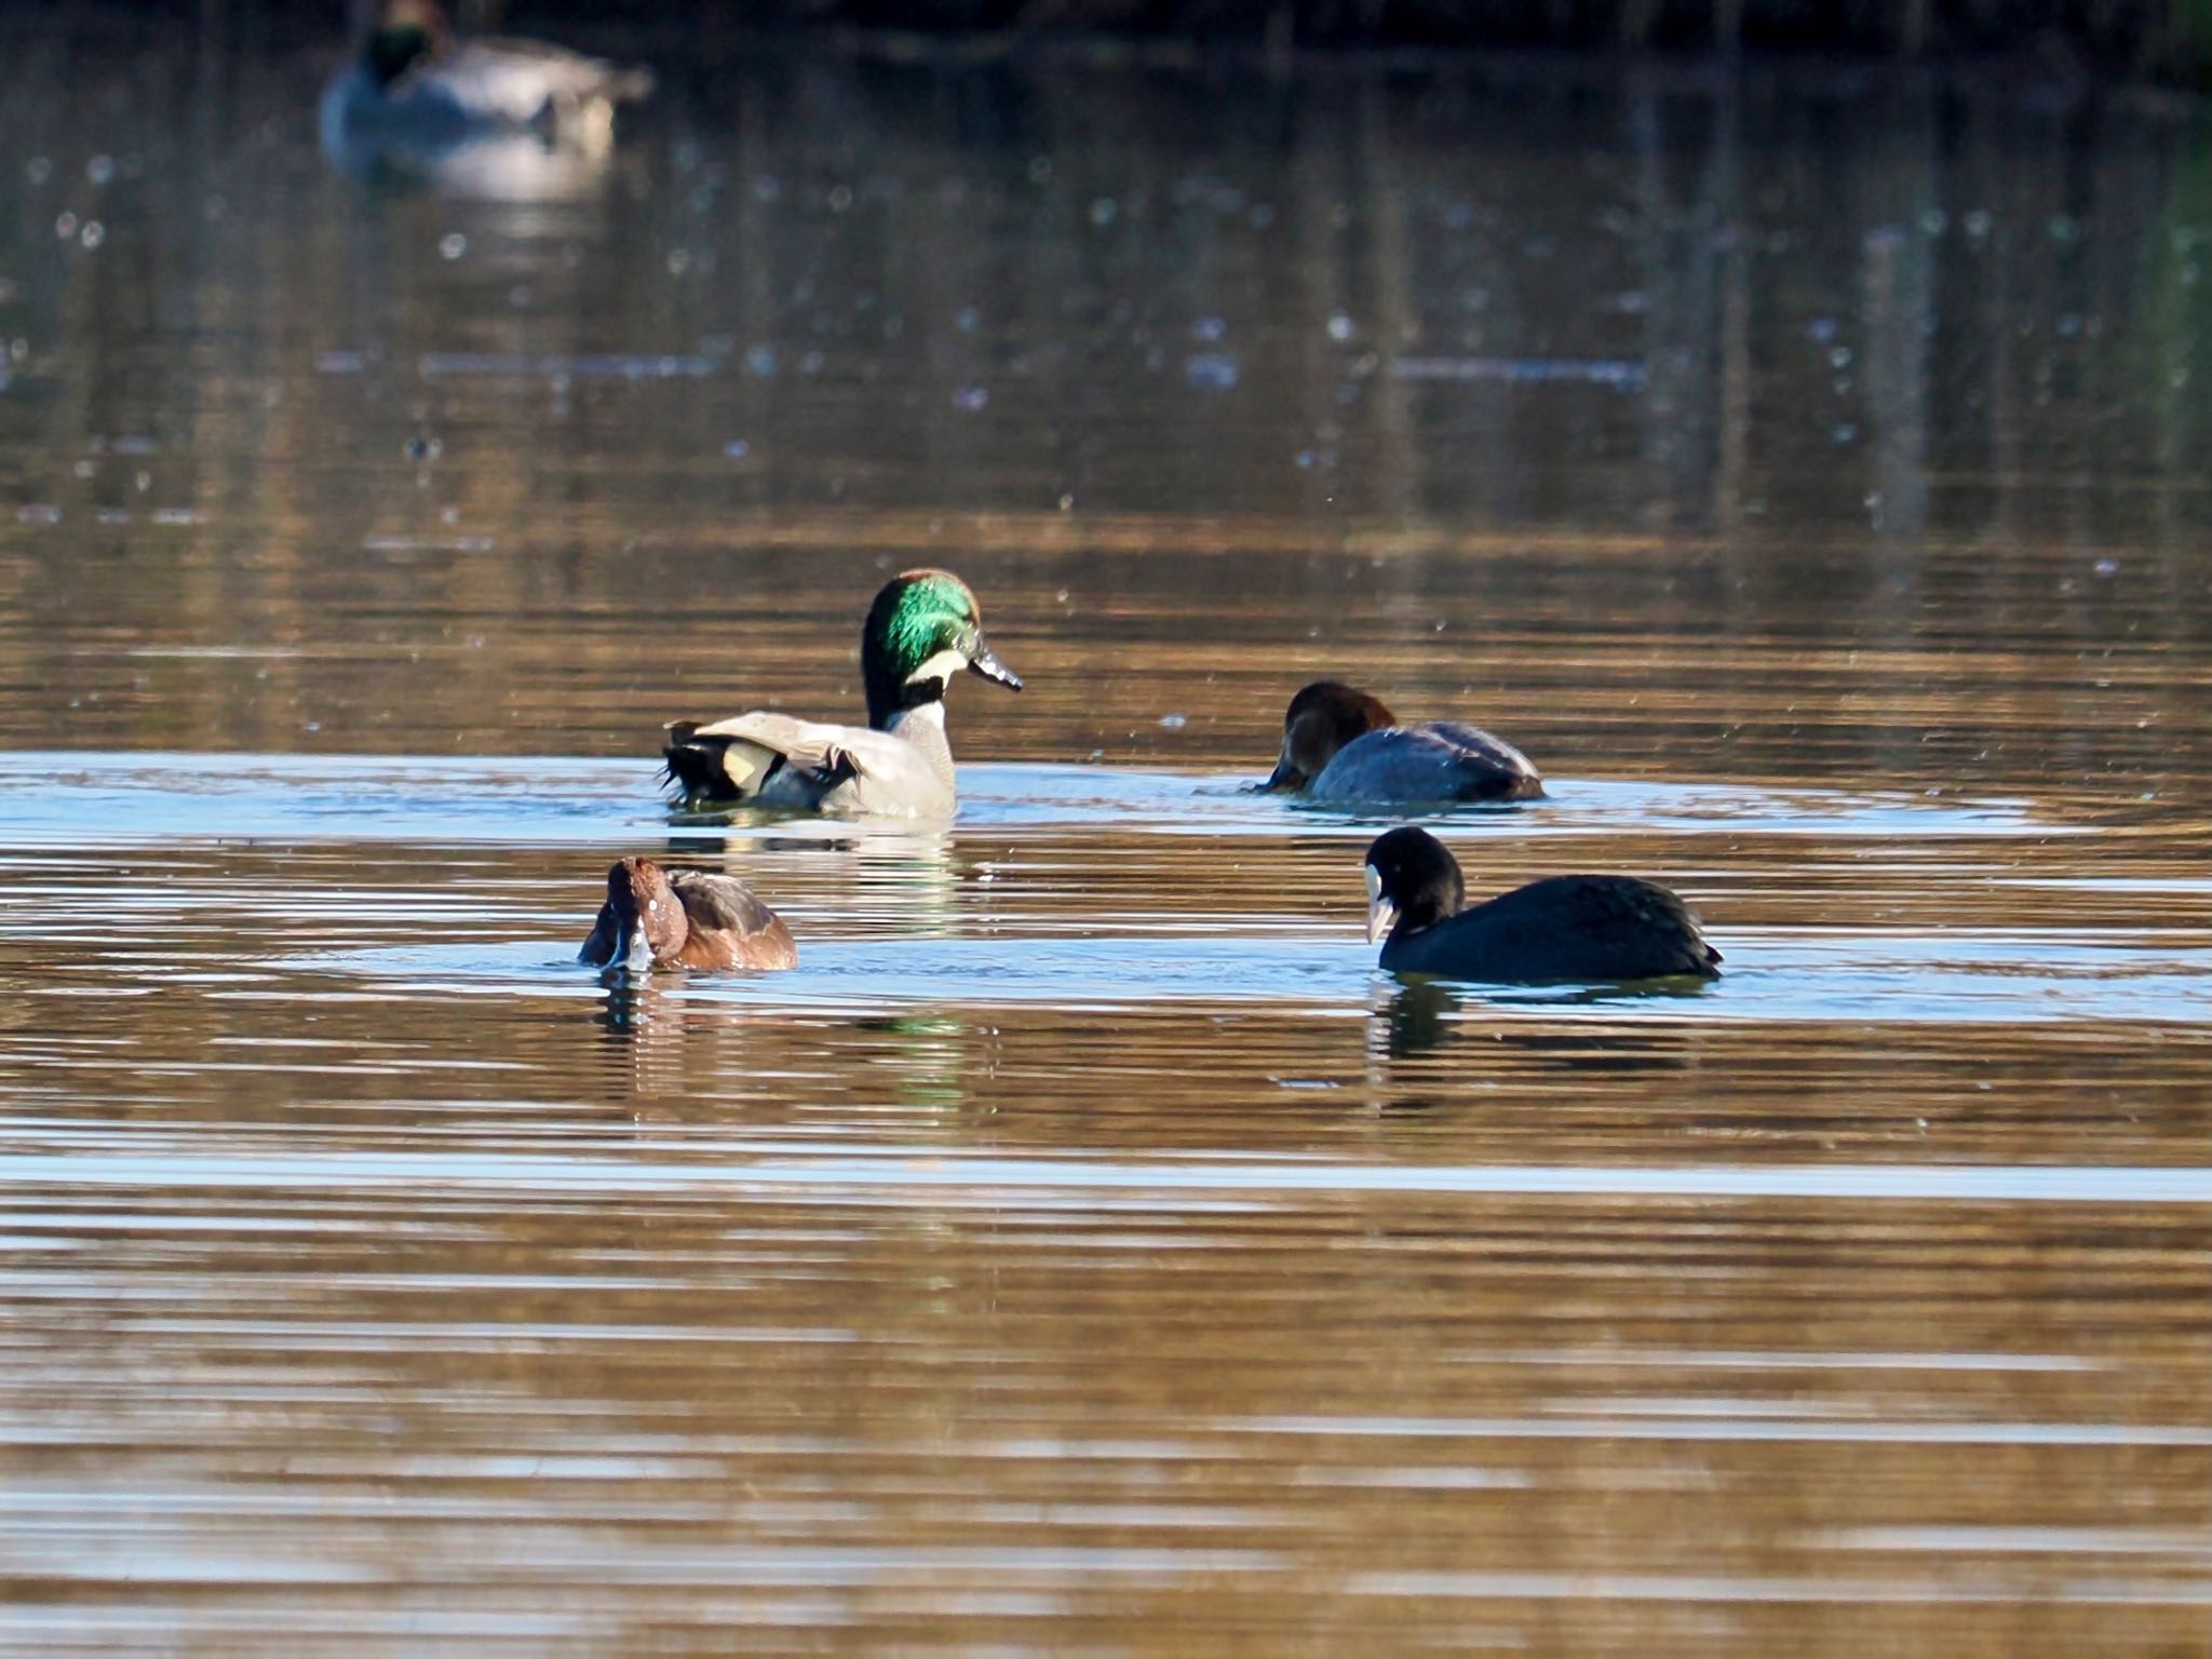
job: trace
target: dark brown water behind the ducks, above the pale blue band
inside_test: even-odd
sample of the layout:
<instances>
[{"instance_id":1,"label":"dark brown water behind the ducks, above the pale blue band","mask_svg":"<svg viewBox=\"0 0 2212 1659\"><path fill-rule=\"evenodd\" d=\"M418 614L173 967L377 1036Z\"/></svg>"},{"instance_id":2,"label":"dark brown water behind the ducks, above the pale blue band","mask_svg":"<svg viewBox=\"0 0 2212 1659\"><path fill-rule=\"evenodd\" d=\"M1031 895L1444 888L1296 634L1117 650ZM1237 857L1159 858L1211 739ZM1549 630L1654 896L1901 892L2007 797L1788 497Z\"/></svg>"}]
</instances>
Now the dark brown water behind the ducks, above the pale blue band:
<instances>
[{"instance_id":1,"label":"dark brown water behind the ducks, above the pale blue band","mask_svg":"<svg viewBox=\"0 0 2212 1659\"><path fill-rule=\"evenodd\" d=\"M1989 712L1980 653L2064 770L2197 770L2194 108L801 55L606 164L378 188L307 142L327 53L13 51L18 743L637 752L670 692L821 684L856 591L936 557L1086 655L1082 730L1046 675L969 712L995 752L1128 743L1093 681L1172 712L1203 611L1267 686L1166 701L1239 750L1371 664L1571 754L1562 695L1697 692L1610 768L1725 770L1721 726L1887 774ZM307 655L144 655L241 641ZM1741 661L1851 650L1931 703L1909 752L1761 743ZM1938 781L2026 759L1982 748Z\"/></svg>"}]
</instances>

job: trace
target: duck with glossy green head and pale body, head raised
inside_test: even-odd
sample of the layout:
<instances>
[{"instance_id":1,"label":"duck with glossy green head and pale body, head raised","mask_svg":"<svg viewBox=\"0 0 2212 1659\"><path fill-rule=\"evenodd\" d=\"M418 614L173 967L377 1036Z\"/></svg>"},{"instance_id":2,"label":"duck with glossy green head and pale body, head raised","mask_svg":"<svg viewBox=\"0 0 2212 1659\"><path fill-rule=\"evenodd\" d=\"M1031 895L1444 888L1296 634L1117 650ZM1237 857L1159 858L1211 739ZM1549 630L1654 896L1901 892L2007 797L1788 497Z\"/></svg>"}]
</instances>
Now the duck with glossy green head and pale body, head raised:
<instances>
[{"instance_id":1,"label":"duck with glossy green head and pale body, head raised","mask_svg":"<svg viewBox=\"0 0 2212 1659\"><path fill-rule=\"evenodd\" d=\"M982 635L982 606L951 571L900 571L860 624L867 726L752 710L670 721L664 779L688 807L949 818L953 750L945 690L960 670L1022 690Z\"/></svg>"}]
</instances>

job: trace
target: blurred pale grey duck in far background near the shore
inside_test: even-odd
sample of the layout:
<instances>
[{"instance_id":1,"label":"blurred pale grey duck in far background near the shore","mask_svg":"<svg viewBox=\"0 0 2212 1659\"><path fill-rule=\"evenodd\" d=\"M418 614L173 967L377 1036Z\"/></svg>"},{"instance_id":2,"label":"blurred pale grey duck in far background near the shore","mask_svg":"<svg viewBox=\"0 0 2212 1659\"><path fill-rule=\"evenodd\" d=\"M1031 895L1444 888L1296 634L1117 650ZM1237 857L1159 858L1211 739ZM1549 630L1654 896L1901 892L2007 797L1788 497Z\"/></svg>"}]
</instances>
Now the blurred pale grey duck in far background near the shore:
<instances>
[{"instance_id":1,"label":"blurred pale grey duck in far background near the shore","mask_svg":"<svg viewBox=\"0 0 2212 1659\"><path fill-rule=\"evenodd\" d=\"M462 144L526 131L604 148L615 106L650 91L648 69L540 40L462 40L436 0L387 0L361 58L323 93L323 139L343 150L361 135Z\"/></svg>"}]
</instances>

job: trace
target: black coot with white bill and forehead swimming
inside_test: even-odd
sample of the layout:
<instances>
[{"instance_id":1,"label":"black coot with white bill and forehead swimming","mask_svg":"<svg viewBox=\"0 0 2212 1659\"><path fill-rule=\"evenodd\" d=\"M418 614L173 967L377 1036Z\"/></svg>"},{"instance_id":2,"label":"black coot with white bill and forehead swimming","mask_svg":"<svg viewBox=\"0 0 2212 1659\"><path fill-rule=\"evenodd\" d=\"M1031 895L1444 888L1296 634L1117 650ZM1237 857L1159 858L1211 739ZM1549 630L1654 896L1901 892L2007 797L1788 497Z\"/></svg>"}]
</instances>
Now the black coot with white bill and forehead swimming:
<instances>
[{"instance_id":1,"label":"black coot with white bill and forehead swimming","mask_svg":"<svg viewBox=\"0 0 2212 1659\"><path fill-rule=\"evenodd\" d=\"M1489 984L1721 978L1697 916L1635 876L1546 876L1469 907L1460 860L1427 830L1367 847L1367 942L1383 969Z\"/></svg>"}]
</instances>

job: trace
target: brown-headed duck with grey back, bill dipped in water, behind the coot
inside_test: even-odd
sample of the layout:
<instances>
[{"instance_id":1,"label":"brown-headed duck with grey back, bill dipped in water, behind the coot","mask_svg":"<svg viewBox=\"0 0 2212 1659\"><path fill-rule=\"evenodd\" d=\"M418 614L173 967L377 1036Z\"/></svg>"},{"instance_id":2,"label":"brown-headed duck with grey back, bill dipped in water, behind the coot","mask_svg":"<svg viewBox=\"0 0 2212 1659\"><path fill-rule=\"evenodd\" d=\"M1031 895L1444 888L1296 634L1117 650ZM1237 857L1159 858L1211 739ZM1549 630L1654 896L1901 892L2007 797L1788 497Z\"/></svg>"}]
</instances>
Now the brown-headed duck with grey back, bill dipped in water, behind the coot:
<instances>
[{"instance_id":1,"label":"brown-headed duck with grey back, bill dipped in water, behind the coot","mask_svg":"<svg viewBox=\"0 0 2212 1659\"><path fill-rule=\"evenodd\" d=\"M1314 801L1531 801L1544 779L1475 726L1400 726L1378 697L1316 679L1283 712L1283 752L1263 787Z\"/></svg>"}]
</instances>

